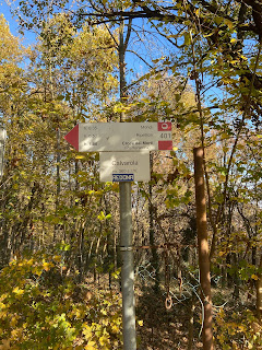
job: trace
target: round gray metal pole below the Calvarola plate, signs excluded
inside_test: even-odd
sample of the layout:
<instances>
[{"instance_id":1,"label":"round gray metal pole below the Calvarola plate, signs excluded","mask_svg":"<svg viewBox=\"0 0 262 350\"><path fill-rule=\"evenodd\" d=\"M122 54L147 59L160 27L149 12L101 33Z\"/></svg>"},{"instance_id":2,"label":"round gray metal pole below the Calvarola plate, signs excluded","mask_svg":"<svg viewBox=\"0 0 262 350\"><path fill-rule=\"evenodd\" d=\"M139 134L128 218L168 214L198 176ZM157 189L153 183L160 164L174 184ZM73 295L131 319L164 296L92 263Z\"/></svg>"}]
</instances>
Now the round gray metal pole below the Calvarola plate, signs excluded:
<instances>
[{"instance_id":1,"label":"round gray metal pole below the Calvarola plate, signs excluded","mask_svg":"<svg viewBox=\"0 0 262 350\"><path fill-rule=\"evenodd\" d=\"M131 183L119 183L123 349L136 349Z\"/></svg>"}]
</instances>

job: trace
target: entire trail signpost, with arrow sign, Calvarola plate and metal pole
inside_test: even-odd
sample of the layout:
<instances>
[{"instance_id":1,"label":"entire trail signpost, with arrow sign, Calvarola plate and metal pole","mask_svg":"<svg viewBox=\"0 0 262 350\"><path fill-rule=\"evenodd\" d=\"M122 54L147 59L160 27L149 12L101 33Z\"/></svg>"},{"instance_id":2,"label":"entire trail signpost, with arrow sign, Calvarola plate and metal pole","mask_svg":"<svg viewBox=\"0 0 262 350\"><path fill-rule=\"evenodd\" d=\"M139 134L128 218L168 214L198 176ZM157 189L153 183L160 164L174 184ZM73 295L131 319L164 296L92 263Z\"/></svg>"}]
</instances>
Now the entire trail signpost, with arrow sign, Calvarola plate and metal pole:
<instances>
[{"instance_id":1,"label":"entire trail signpost, with arrow sign, Calvarola plate and metal pole","mask_svg":"<svg viewBox=\"0 0 262 350\"><path fill-rule=\"evenodd\" d=\"M123 349L136 349L131 183L150 180L150 151L172 150L171 122L86 122L64 139L79 152L99 152L100 182L118 182L122 257Z\"/></svg>"}]
</instances>

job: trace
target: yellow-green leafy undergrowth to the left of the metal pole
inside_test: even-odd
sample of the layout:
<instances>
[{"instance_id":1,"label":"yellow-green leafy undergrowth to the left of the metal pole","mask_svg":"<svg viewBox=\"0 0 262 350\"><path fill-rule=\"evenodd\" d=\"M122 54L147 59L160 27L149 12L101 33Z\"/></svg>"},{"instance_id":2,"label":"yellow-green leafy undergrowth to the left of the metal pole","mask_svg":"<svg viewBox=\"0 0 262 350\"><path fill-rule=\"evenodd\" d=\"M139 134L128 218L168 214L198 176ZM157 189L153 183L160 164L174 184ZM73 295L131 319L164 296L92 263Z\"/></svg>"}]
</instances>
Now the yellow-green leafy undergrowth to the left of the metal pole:
<instances>
[{"instance_id":1,"label":"yellow-green leafy undergrowth to the left of the metal pole","mask_svg":"<svg viewBox=\"0 0 262 350\"><path fill-rule=\"evenodd\" d=\"M61 256L38 253L1 271L0 339L7 349L119 349L119 295L79 287L66 270Z\"/></svg>"}]
</instances>

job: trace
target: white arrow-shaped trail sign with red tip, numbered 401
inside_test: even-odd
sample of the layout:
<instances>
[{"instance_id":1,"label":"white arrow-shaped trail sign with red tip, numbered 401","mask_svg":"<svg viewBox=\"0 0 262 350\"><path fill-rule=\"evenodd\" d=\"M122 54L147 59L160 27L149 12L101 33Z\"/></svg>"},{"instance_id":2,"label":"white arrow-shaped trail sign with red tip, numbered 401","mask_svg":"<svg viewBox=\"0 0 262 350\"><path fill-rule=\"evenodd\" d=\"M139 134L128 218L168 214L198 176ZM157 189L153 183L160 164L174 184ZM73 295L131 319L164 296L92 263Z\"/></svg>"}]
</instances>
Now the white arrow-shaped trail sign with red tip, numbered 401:
<instances>
[{"instance_id":1,"label":"white arrow-shaped trail sign with red tip, numbered 401","mask_svg":"<svg viewBox=\"0 0 262 350\"><path fill-rule=\"evenodd\" d=\"M78 124L64 139L79 152L171 150L171 122Z\"/></svg>"}]
</instances>

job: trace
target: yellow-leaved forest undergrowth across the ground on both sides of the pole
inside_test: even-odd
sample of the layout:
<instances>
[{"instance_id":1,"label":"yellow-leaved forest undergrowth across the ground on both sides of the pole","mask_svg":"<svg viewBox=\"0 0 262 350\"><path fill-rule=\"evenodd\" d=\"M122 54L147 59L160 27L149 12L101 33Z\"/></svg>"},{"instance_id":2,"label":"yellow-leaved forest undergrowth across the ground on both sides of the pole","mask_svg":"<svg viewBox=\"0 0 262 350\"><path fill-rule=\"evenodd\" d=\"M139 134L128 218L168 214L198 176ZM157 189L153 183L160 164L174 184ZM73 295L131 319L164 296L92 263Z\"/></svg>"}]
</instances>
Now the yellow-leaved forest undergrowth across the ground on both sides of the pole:
<instances>
[{"instance_id":1,"label":"yellow-leaved forest undergrowth across the ground on both sides of the pole","mask_svg":"<svg viewBox=\"0 0 262 350\"><path fill-rule=\"evenodd\" d=\"M120 349L120 279L108 277L90 273L80 283L59 255L12 260L0 273L0 349ZM216 349L261 349L253 296L237 293L236 285L212 290ZM190 298L170 288L170 295L136 278L138 349L202 348L200 290Z\"/></svg>"}]
</instances>

